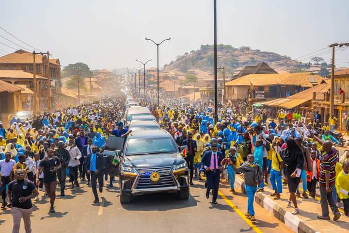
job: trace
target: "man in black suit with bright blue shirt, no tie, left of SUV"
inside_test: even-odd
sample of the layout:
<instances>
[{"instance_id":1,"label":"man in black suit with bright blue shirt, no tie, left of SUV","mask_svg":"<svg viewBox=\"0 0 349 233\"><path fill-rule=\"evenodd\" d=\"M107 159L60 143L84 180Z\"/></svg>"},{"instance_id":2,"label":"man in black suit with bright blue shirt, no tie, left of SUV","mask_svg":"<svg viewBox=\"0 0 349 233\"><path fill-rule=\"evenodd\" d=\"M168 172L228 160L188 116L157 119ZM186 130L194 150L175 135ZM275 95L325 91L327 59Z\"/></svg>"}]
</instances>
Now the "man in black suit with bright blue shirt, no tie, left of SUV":
<instances>
[{"instance_id":1,"label":"man in black suit with bright blue shirt, no tie, left of SUV","mask_svg":"<svg viewBox=\"0 0 349 233\"><path fill-rule=\"evenodd\" d=\"M97 152L97 146L92 145L92 153L88 154L85 161L87 174L91 174L92 192L95 195L94 203L99 202L97 194L97 179L99 184L99 192L103 191L103 168L105 160L103 155Z\"/></svg>"}]
</instances>

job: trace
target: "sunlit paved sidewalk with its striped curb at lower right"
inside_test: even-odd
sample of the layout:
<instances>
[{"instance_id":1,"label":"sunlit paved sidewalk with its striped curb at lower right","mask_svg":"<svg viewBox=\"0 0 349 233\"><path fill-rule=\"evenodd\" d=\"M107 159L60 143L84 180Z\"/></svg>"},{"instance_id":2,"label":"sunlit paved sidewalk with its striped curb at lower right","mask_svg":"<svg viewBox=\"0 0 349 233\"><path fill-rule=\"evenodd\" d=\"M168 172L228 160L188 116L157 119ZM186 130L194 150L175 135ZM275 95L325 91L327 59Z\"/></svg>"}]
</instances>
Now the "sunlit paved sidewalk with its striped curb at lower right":
<instances>
[{"instance_id":1,"label":"sunlit paved sidewalk with its striped curb at lower right","mask_svg":"<svg viewBox=\"0 0 349 233\"><path fill-rule=\"evenodd\" d=\"M240 175L236 176L235 188L245 193L244 182ZM320 220L317 215L321 214L321 206L319 196L316 199L297 198L300 213L296 216L292 215L293 208L286 208L289 197L288 188L283 187L283 193L280 200L273 200L270 194L273 193L271 185L264 188L264 192L259 192L255 196L255 202L264 209L267 209L274 217L286 224L296 233L347 233L349 229L349 217L342 216L336 222L333 220ZM317 189L318 191L318 189ZM247 201L247 200L246 200ZM330 217L333 218L331 209Z\"/></svg>"}]
</instances>

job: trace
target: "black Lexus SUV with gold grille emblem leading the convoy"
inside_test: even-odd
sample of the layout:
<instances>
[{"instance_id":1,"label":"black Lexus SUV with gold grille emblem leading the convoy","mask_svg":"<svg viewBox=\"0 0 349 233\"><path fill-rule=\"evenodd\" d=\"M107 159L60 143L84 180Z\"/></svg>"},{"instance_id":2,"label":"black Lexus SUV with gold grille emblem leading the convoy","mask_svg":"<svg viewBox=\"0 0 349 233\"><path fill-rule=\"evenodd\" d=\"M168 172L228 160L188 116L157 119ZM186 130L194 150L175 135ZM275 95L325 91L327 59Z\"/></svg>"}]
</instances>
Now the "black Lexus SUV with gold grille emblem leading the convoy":
<instances>
[{"instance_id":1,"label":"black Lexus SUV with gold grille emblem leading the convoy","mask_svg":"<svg viewBox=\"0 0 349 233\"><path fill-rule=\"evenodd\" d=\"M188 170L170 133L160 129L132 132L120 156L120 202L159 192L188 199Z\"/></svg>"}]
</instances>

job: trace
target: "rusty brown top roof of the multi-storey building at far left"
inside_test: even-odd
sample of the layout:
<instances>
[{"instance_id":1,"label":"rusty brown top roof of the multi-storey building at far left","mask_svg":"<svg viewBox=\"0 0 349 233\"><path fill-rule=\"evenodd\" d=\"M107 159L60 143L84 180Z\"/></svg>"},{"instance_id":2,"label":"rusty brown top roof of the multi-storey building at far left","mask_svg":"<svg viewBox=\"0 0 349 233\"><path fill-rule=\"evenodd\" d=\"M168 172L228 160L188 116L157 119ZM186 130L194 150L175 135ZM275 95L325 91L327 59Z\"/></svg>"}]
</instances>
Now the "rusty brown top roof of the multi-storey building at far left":
<instances>
[{"instance_id":1,"label":"rusty brown top roof of the multi-storey building at far left","mask_svg":"<svg viewBox=\"0 0 349 233\"><path fill-rule=\"evenodd\" d=\"M42 60L42 55L35 55L35 63L42 63ZM33 54L24 50L17 50L16 52L0 57L0 63L33 63ZM50 58L50 63L60 65L59 59Z\"/></svg>"}]
</instances>

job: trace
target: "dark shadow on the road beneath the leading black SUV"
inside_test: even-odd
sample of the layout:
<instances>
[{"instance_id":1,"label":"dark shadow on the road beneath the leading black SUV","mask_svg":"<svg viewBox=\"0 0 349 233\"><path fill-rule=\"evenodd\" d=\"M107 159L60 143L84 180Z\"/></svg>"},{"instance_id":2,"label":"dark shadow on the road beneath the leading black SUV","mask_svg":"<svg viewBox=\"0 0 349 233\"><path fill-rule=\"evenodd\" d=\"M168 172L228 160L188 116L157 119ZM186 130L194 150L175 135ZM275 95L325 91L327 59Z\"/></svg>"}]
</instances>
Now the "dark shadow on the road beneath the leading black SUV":
<instances>
[{"instance_id":1,"label":"dark shadow on the road beneath the leading black SUV","mask_svg":"<svg viewBox=\"0 0 349 233\"><path fill-rule=\"evenodd\" d=\"M197 206L197 202L191 195L188 200L180 200L174 193L157 193L135 196L122 206L129 211L167 211Z\"/></svg>"}]
</instances>

